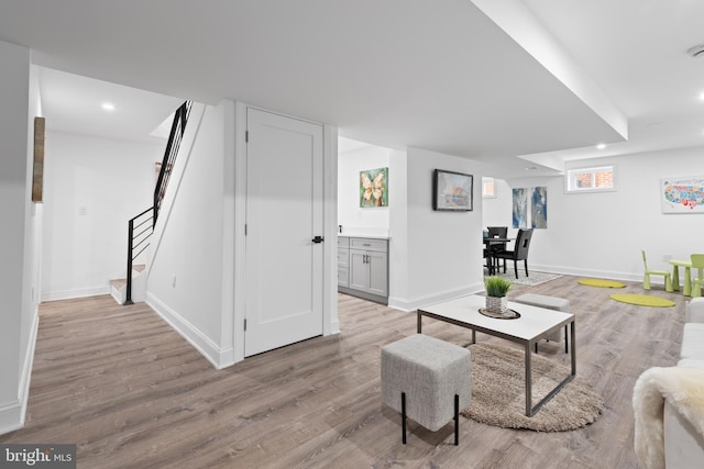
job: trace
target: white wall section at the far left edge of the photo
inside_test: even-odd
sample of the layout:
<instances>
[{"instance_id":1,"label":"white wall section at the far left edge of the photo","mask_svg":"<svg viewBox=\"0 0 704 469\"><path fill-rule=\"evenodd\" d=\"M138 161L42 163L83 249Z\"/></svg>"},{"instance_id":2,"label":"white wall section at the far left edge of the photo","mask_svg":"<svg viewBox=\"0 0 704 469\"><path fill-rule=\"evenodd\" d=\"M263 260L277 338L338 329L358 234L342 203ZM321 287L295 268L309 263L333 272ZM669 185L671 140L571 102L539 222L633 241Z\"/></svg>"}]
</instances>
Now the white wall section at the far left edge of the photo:
<instances>
[{"instance_id":1,"label":"white wall section at the far left edge of the photo","mask_svg":"<svg viewBox=\"0 0 704 469\"><path fill-rule=\"evenodd\" d=\"M34 116L30 51L0 42L0 434L24 424L36 340L42 209L31 202Z\"/></svg>"}]
</instances>

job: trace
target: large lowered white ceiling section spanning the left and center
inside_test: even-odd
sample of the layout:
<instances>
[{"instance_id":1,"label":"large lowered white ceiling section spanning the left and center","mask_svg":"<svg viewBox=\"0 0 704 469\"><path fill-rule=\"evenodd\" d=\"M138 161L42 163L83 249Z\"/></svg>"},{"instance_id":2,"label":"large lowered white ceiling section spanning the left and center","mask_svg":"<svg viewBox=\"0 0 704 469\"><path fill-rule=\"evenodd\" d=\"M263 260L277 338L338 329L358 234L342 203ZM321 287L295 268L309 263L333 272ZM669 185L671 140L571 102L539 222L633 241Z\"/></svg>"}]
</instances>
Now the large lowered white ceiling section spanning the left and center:
<instances>
[{"instance_id":1,"label":"large lowered white ceiling section spanning the left and center","mask_svg":"<svg viewBox=\"0 0 704 469\"><path fill-rule=\"evenodd\" d=\"M468 0L3 0L35 64L522 170L619 131Z\"/></svg>"}]
</instances>

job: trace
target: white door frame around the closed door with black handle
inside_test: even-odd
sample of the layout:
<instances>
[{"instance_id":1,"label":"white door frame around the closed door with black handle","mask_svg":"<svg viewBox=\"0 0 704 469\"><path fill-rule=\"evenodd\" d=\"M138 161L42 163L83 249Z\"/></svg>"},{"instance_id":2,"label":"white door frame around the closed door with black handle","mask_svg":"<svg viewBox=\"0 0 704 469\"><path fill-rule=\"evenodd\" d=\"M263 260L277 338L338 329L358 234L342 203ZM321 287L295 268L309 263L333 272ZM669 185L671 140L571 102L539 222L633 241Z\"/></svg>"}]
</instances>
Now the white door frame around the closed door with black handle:
<instances>
[{"instance_id":1,"label":"white door frame around the closed door with black handle","mask_svg":"<svg viewBox=\"0 0 704 469\"><path fill-rule=\"evenodd\" d=\"M263 112L311 122L280 112L271 111L241 101L235 102L235 152L234 152L234 288L233 299L233 355L234 362L244 359L244 319L246 312L246 110L256 109ZM311 122L320 124L319 122ZM322 124L322 197L323 197L323 248L322 268L322 335L340 332L338 320L338 129ZM227 194L226 194L227 196Z\"/></svg>"}]
</instances>

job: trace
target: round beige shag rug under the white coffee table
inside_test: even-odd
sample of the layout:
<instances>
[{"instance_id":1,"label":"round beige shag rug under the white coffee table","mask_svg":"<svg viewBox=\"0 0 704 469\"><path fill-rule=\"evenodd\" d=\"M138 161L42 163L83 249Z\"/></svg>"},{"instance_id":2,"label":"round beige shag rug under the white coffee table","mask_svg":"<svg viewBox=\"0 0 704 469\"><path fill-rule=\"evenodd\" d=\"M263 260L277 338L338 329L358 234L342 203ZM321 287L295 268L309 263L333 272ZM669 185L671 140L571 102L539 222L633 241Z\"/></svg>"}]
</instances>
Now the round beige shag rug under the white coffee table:
<instances>
[{"instance_id":1,"label":"round beige shag rug under the white coffee table","mask_svg":"<svg viewBox=\"0 0 704 469\"><path fill-rule=\"evenodd\" d=\"M565 432L581 428L602 414L604 401L578 376L566 383L532 417L526 416L524 350L497 344L474 344L472 353L472 403L462 415L504 428ZM568 375L570 368L554 359L532 355L532 405Z\"/></svg>"}]
</instances>

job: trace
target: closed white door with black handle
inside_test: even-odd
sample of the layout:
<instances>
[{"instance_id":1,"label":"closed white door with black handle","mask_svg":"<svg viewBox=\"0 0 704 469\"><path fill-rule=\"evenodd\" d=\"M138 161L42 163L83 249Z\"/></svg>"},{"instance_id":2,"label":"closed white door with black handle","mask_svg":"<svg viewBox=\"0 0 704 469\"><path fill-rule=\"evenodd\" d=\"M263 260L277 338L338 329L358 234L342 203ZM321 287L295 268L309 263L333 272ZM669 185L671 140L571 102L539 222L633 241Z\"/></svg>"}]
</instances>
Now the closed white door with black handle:
<instances>
[{"instance_id":1,"label":"closed white door with black handle","mask_svg":"<svg viewBox=\"0 0 704 469\"><path fill-rule=\"evenodd\" d=\"M251 356L322 334L322 126L248 109Z\"/></svg>"}]
</instances>

